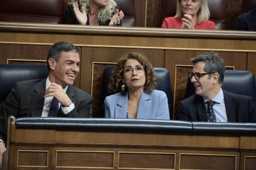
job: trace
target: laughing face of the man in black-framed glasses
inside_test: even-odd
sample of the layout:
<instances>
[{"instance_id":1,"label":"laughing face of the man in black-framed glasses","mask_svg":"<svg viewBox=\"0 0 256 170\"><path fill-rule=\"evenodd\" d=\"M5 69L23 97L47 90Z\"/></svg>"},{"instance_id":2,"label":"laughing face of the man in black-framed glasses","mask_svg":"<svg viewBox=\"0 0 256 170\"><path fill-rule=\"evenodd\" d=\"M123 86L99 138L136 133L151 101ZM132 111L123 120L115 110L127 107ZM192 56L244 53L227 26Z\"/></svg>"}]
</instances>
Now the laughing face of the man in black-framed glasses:
<instances>
[{"instance_id":1,"label":"laughing face of the man in black-framed glasses","mask_svg":"<svg viewBox=\"0 0 256 170\"><path fill-rule=\"evenodd\" d=\"M207 73L203 70L203 68L205 68L205 63L197 62L193 67L192 73ZM220 91L218 78L218 73L214 73L211 75L204 75L198 80L196 80L195 76L193 76L190 81L194 84L195 94L201 95L206 99L211 100Z\"/></svg>"}]
</instances>

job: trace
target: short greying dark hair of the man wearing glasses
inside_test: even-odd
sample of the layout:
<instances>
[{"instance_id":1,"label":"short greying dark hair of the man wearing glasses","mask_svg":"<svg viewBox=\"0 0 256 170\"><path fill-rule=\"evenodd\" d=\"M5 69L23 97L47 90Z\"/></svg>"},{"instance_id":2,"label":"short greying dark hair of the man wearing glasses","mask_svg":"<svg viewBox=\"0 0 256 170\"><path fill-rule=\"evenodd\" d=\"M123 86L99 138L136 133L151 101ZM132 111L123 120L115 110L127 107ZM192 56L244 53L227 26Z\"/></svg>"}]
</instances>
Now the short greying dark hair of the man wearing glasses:
<instances>
[{"instance_id":1,"label":"short greying dark hair of the man wearing glasses","mask_svg":"<svg viewBox=\"0 0 256 170\"><path fill-rule=\"evenodd\" d=\"M197 57L191 59L191 62L194 63L194 65L197 62L205 63L205 68L203 68L203 70L207 73L218 73L220 75L219 83L223 84L225 63L217 53L209 52L198 55ZM211 75L208 76L211 78Z\"/></svg>"}]
</instances>

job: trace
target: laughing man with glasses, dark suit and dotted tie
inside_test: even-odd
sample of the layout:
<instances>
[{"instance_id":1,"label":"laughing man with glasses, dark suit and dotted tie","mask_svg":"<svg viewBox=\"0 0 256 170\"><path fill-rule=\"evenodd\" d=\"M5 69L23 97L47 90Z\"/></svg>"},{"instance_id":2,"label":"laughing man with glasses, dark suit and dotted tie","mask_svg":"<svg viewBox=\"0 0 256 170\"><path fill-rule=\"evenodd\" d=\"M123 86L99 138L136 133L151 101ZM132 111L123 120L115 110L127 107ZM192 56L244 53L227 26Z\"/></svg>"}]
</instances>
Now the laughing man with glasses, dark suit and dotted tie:
<instances>
[{"instance_id":1,"label":"laughing man with glasses, dark suit and dotted tie","mask_svg":"<svg viewBox=\"0 0 256 170\"><path fill-rule=\"evenodd\" d=\"M256 107L252 97L237 95L221 89L224 61L216 53L198 55L191 59L189 73L195 94L182 100L179 119L184 121L256 122Z\"/></svg>"}]
</instances>

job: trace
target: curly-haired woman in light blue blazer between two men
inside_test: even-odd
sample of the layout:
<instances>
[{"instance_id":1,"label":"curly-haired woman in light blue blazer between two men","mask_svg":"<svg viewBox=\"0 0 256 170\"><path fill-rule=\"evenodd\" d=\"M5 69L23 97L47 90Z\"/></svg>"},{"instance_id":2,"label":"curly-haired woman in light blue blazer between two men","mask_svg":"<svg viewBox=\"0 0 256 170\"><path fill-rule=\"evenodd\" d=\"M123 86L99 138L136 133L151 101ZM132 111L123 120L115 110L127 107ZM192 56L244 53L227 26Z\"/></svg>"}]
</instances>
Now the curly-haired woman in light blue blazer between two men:
<instances>
[{"instance_id":1,"label":"curly-haired woman in light blue blazer between two men","mask_svg":"<svg viewBox=\"0 0 256 170\"><path fill-rule=\"evenodd\" d=\"M124 55L110 78L105 118L170 119L168 99L155 90L156 73L142 54Z\"/></svg>"}]
</instances>

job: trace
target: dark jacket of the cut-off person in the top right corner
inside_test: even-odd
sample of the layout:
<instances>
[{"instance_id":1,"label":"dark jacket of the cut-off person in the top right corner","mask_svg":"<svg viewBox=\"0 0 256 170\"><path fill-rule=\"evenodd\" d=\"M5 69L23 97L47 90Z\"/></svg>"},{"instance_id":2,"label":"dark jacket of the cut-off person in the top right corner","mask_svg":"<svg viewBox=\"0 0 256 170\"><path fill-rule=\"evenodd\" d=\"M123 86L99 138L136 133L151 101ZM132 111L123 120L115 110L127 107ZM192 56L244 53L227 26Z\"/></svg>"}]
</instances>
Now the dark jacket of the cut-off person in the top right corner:
<instances>
[{"instance_id":1,"label":"dark jacket of the cut-off person in the top right corner","mask_svg":"<svg viewBox=\"0 0 256 170\"><path fill-rule=\"evenodd\" d=\"M256 31L256 9L238 16L236 30Z\"/></svg>"}]
</instances>

